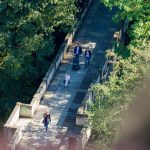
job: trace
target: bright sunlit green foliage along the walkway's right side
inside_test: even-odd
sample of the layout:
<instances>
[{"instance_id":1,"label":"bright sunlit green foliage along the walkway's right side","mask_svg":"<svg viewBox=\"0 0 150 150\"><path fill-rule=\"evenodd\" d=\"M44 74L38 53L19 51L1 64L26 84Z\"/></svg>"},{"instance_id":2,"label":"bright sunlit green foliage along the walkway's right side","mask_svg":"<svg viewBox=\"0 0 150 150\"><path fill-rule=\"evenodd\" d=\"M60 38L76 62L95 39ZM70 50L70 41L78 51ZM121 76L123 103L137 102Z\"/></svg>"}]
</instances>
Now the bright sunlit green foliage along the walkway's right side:
<instances>
[{"instance_id":1,"label":"bright sunlit green foliage along the walkway's right side","mask_svg":"<svg viewBox=\"0 0 150 150\"><path fill-rule=\"evenodd\" d=\"M95 102L91 104L91 124L95 134L104 144L112 144L121 134L123 123L133 97L142 87L146 72L150 69L150 4L148 0L102 0L109 7L118 8L114 19L129 21L128 45L115 44L114 51L106 56L114 58L109 80L91 87Z\"/></svg>"}]
</instances>

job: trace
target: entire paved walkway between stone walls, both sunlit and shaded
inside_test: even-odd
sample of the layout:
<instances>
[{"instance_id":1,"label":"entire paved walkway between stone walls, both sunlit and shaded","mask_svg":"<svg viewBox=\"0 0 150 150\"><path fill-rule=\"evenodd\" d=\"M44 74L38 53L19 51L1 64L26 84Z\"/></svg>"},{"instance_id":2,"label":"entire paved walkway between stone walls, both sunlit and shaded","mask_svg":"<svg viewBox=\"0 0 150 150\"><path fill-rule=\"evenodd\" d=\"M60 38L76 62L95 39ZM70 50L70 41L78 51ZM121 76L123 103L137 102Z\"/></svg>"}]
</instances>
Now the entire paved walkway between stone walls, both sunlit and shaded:
<instances>
[{"instance_id":1,"label":"entire paved walkway between stone walls, both sunlit and shaded","mask_svg":"<svg viewBox=\"0 0 150 150\"><path fill-rule=\"evenodd\" d=\"M72 58L74 44L70 47L66 58L63 60L56 75L45 93L41 106L32 121L30 119L20 119L16 125L21 126L23 122L28 123L23 129L23 138L18 149L35 150L45 149L54 145L57 149L65 137L66 131L77 134L75 128L75 116L82 100L90 87L99 75L99 71L104 65L104 52L111 47L111 39L116 31L116 25L112 22L113 12L109 12L99 1L94 1L84 24L81 26L74 43L80 42L83 51L87 47L92 50L91 65L84 69L84 52L80 57L81 69L72 70ZM64 87L63 80L65 73L71 76L71 84ZM44 133L42 115L49 109L52 122L48 133ZM62 128L60 128L60 126ZM58 136L61 135L61 136ZM53 147L53 149L55 149Z\"/></svg>"}]
</instances>

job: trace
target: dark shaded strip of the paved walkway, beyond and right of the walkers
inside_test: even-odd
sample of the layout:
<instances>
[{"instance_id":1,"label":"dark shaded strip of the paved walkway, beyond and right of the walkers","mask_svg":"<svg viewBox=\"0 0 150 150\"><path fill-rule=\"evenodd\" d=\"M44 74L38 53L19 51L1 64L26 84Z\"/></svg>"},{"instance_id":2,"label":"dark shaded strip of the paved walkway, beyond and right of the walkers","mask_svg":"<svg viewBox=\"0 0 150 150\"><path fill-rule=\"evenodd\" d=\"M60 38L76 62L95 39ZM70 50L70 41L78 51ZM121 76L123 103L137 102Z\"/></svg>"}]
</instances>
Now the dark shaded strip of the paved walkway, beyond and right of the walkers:
<instances>
[{"instance_id":1,"label":"dark shaded strip of the paved walkway, beyond and right of the walkers","mask_svg":"<svg viewBox=\"0 0 150 150\"><path fill-rule=\"evenodd\" d=\"M92 62L70 104L63 123L64 126L71 128L75 126L78 106L82 103L90 84L97 80L100 69L105 63L105 51L112 47L112 37L117 29L117 25L112 22L113 14L113 11L109 12L99 1L95 1L74 40L74 42L79 41L83 45L91 45L92 43Z\"/></svg>"}]
</instances>

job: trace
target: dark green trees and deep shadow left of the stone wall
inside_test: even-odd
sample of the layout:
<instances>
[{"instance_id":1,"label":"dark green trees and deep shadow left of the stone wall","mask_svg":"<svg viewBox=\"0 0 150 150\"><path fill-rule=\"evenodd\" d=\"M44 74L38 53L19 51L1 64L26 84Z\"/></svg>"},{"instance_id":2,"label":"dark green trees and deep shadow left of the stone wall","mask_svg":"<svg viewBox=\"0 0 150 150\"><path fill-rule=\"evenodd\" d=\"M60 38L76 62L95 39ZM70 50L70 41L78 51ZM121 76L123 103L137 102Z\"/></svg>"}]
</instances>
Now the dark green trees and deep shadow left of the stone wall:
<instances>
[{"instance_id":1,"label":"dark green trees and deep shadow left of the stone wall","mask_svg":"<svg viewBox=\"0 0 150 150\"><path fill-rule=\"evenodd\" d=\"M0 118L30 102L87 0L0 1Z\"/></svg>"}]
</instances>

